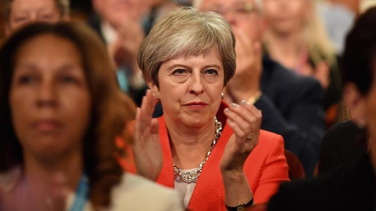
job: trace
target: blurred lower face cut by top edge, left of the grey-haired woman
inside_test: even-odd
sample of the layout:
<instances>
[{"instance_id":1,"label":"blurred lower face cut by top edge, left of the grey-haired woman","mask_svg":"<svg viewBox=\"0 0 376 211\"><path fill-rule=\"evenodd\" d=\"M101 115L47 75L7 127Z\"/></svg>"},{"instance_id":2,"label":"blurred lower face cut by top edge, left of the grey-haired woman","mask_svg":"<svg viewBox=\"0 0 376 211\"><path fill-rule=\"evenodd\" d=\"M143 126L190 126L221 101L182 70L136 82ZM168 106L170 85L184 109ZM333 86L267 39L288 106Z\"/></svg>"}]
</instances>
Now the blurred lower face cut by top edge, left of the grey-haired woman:
<instances>
[{"instance_id":1,"label":"blurred lower face cut by top edge, left of the grey-haired woman","mask_svg":"<svg viewBox=\"0 0 376 211\"><path fill-rule=\"evenodd\" d=\"M147 0L92 0L96 12L113 27L123 21L140 21L149 5Z\"/></svg>"}]
</instances>

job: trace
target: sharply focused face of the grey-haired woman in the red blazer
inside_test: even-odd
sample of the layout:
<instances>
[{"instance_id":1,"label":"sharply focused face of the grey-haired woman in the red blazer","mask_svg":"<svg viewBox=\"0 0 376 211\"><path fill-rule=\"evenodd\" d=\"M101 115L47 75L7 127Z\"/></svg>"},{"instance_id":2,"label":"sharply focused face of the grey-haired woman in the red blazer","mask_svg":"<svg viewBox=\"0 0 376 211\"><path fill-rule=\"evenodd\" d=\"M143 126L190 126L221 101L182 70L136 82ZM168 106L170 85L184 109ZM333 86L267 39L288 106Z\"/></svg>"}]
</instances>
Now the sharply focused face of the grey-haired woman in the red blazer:
<instances>
[{"instance_id":1,"label":"sharply focused face of the grey-haired woman in the red blazer","mask_svg":"<svg viewBox=\"0 0 376 211\"><path fill-rule=\"evenodd\" d=\"M222 62L213 50L207 56L178 56L163 62L158 72L164 115L188 127L202 127L217 113L223 90Z\"/></svg>"}]
</instances>

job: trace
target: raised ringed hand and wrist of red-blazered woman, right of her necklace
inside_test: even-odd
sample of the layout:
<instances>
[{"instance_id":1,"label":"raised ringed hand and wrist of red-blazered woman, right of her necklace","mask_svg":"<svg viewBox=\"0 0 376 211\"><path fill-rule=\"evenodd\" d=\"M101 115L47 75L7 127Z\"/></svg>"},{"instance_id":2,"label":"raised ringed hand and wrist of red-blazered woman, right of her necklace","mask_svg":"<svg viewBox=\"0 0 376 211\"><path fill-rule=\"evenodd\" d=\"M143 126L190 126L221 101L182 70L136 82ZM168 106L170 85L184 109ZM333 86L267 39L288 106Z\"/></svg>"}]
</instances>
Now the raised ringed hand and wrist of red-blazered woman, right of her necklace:
<instances>
[{"instance_id":1,"label":"raised ringed hand and wrist of red-blazered woman, right of her necklace","mask_svg":"<svg viewBox=\"0 0 376 211\"><path fill-rule=\"evenodd\" d=\"M242 101L241 105L230 104L224 114L234 133L224 149L220 169L223 177L235 178L243 176L244 163L258 143L262 113L251 103Z\"/></svg>"}]
</instances>

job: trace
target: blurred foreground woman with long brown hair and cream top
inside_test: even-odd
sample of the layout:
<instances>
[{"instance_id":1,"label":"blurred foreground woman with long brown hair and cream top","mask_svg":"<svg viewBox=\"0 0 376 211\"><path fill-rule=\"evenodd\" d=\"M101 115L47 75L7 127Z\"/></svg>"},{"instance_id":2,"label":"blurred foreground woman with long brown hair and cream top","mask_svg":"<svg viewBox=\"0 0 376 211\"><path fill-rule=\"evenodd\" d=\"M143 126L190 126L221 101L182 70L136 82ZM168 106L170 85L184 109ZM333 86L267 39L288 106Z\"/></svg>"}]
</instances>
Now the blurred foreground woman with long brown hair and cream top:
<instances>
[{"instance_id":1,"label":"blurred foreground woman with long brown hair and cream top","mask_svg":"<svg viewBox=\"0 0 376 211\"><path fill-rule=\"evenodd\" d=\"M134 107L106 52L77 23L32 24L3 44L1 210L180 209L173 191L124 174L114 157Z\"/></svg>"}]
</instances>

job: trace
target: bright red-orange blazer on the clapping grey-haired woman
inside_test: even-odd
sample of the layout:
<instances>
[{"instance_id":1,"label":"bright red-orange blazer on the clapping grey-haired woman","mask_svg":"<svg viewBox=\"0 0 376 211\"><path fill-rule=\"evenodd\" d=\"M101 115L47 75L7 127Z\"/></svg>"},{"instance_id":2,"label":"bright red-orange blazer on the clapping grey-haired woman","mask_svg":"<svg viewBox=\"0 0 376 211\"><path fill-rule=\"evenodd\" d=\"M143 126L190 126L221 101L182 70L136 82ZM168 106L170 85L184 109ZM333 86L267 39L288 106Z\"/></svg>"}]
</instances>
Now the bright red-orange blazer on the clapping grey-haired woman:
<instances>
[{"instance_id":1,"label":"bright red-orange blazer on the clapping grey-haired woman","mask_svg":"<svg viewBox=\"0 0 376 211\"><path fill-rule=\"evenodd\" d=\"M225 123L226 116L223 109L226 104L221 104L217 113L219 121ZM158 118L159 138L161 140L163 165L156 182L167 187L174 188L174 169L170 149L170 140L163 116ZM222 135L215 145L209 160L205 163L194 188L191 200L188 204L190 210L221 210L226 211L224 205L224 185L219 169L224 148L230 136L233 134L228 125L224 125ZM117 140L121 146L121 140ZM130 150L126 159L119 158L120 165L128 172L135 173L133 155ZM281 182L289 181L288 166L284 155L284 140L282 136L261 130L259 143L253 149L244 164L244 172L247 176L255 203L266 203L273 196Z\"/></svg>"}]
</instances>

